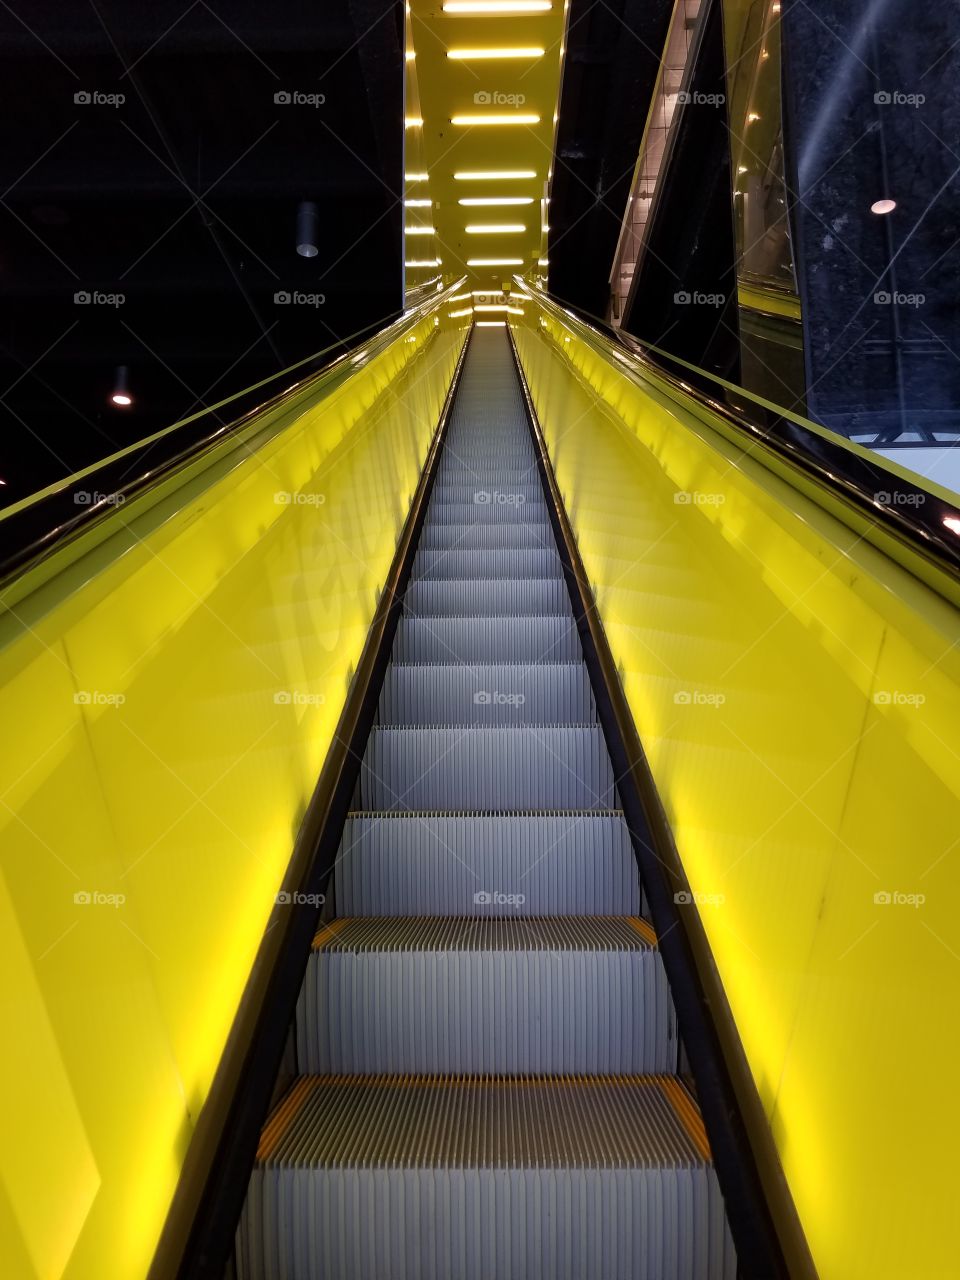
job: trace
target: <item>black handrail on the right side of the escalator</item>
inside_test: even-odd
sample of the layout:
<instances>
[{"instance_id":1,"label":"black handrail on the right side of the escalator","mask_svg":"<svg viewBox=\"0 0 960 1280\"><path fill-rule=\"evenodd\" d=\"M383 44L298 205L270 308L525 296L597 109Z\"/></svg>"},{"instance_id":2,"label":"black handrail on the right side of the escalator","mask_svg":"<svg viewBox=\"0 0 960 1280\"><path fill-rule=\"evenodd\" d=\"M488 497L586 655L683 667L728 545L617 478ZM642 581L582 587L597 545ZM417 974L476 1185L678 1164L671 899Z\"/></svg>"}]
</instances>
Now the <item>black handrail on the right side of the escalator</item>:
<instances>
[{"instance_id":1,"label":"black handrail on the right side of the escalator","mask_svg":"<svg viewBox=\"0 0 960 1280\"><path fill-rule=\"evenodd\" d=\"M692 401L732 429L736 439L749 449L755 451L759 445L803 471L838 498L841 509L852 508L861 521L867 521L867 530L855 527L856 532L887 553L891 544L900 548L904 554L896 558L908 570L960 603L960 499L951 500L947 490L934 492L940 486L924 488L900 475L886 458L874 458L867 448L845 440L828 428L806 421L667 351L641 343L598 316L557 302L520 278L517 284L531 301L552 311L571 332L585 337L602 355L616 358L634 376L657 383L681 403ZM681 378L671 365L703 385ZM704 385L709 384L719 389L718 394L733 393L739 401L749 402L750 411L742 403L722 403L716 394L708 394Z\"/></svg>"}]
</instances>

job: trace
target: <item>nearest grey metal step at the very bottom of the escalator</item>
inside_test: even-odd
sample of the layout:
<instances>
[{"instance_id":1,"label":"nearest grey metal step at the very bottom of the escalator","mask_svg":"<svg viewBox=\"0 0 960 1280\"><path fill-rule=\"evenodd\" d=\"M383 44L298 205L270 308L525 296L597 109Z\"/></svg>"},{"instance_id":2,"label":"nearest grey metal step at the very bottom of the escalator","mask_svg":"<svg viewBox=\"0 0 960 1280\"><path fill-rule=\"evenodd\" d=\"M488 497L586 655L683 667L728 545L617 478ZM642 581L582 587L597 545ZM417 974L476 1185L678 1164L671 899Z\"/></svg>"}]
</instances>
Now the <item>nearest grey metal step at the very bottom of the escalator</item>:
<instances>
[{"instance_id":1,"label":"nearest grey metal step at the very bottom of the escalator","mask_svg":"<svg viewBox=\"0 0 960 1280\"><path fill-rule=\"evenodd\" d=\"M268 1121L241 1280L733 1280L669 1076L303 1076Z\"/></svg>"}]
</instances>

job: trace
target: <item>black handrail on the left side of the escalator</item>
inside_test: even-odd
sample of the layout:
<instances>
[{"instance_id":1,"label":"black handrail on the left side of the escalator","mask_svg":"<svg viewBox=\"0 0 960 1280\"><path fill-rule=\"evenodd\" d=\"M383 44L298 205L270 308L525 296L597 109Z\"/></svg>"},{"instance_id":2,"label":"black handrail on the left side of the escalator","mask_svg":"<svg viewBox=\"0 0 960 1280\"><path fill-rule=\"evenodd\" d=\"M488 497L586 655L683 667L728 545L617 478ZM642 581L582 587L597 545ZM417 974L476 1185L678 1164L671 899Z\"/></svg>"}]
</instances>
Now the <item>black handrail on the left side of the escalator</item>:
<instances>
[{"instance_id":1,"label":"black handrail on the left side of the escalator","mask_svg":"<svg viewBox=\"0 0 960 1280\"><path fill-rule=\"evenodd\" d=\"M115 515L118 508L147 489L156 486L172 472L221 445L230 436L236 436L256 419L317 390L325 380L362 367L401 338L407 329L413 328L425 316L443 306L451 293L457 289L458 283L448 285L429 301L403 311L399 316L375 321L351 334L343 342L306 356L294 365L262 379L262 381L234 392L219 403L174 422L172 426L164 428L161 431L32 494L6 511L1 511L0 589L46 559L64 543L74 540L100 521ZM302 370L305 365L342 348L344 343L352 343L352 346L340 349L320 369L300 376L297 381L285 385L283 390L268 399L257 402L238 417L228 422L219 422L214 429L210 428L209 419L218 410L236 403L261 387L276 383L278 379L288 378L297 370ZM160 452L155 453L157 447L160 447ZM150 454L150 461L147 461L147 454Z\"/></svg>"}]
</instances>

